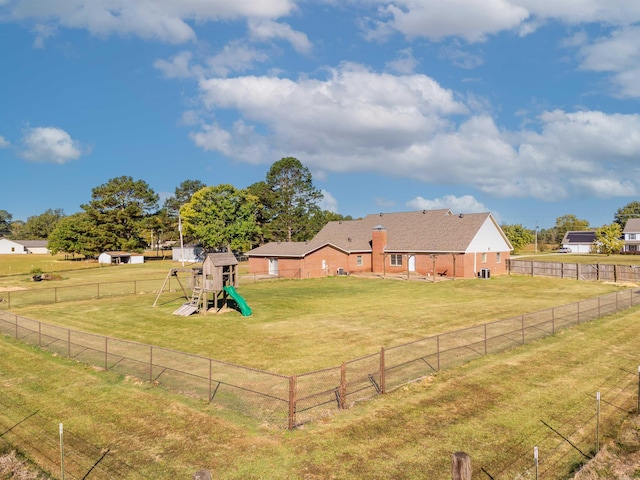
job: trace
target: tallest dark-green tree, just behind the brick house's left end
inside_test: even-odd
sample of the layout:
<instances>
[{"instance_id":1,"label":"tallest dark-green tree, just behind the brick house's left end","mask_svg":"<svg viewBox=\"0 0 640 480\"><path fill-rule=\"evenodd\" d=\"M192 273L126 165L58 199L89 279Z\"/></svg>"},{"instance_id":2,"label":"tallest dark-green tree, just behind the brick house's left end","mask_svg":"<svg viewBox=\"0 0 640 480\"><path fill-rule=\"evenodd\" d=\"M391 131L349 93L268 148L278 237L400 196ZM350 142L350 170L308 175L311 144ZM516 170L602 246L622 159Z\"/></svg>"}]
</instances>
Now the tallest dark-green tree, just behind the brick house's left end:
<instances>
[{"instance_id":1,"label":"tallest dark-green tree, just behind the brick house's left end","mask_svg":"<svg viewBox=\"0 0 640 480\"><path fill-rule=\"evenodd\" d=\"M320 210L318 202L322 199L309 169L297 158L282 158L267 172L266 184L273 194L268 211L271 239L309 240L306 226Z\"/></svg>"}]
</instances>

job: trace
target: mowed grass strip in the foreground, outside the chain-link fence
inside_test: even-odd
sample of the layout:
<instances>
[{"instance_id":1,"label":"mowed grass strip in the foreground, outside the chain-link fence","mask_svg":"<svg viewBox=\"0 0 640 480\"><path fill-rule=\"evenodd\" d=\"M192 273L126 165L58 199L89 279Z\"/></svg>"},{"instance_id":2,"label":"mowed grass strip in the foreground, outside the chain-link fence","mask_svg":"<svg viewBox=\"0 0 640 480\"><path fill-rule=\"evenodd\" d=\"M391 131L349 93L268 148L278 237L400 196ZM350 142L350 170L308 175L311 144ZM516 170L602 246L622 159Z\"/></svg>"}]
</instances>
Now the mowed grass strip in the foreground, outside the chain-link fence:
<instances>
[{"instance_id":1,"label":"mowed grass strip in the foreground, outside the chain-link fence","mask_svg":"<svg viewBox=\"0 0 640 480\"><path fill-rule=\"evenodd\" d=\"M562 425L576 404L624 371L633 383L639 337L634 308L441 372L292 432L263 430L215 404L11 340L0 345L0 390L51 420L53 439L36 439L37 451L27 452L34 458L38 452L59 458L55 436L57 422L64 422L69 434L109 448L109 458L131 466L132 479L191 478L201 468L223 480L446 479L451 454L459 450L471 455L476 471L496 475L518 455L530 464L533 446L549 434L541 419ZM593 412L584 415L586 422ZM543 449L543 460L546 454ZM544 478L568 478L574 460L565 458Z\"/></svg>"}]
</instances>

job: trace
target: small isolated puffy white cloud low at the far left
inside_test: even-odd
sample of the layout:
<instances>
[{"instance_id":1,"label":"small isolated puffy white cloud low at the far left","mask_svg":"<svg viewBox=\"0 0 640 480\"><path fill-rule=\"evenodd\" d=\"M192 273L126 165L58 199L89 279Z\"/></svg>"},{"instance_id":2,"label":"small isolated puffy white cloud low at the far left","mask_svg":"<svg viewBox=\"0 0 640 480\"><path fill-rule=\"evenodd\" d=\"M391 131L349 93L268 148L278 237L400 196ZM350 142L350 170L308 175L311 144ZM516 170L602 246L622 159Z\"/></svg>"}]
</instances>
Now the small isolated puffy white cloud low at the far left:
<instances>
[{"instance_id":1,"label":"small isolated puffy white cloud low at the far left","mask_svg":"<svg viewBox=\"0 0 640 480\"><path fill-rule=\"evenodd\" d=\"M22 138L21 156L32 162L67 163L80 158L88 149L56 127L30 128Z\"/></svg>"}]
</instances>

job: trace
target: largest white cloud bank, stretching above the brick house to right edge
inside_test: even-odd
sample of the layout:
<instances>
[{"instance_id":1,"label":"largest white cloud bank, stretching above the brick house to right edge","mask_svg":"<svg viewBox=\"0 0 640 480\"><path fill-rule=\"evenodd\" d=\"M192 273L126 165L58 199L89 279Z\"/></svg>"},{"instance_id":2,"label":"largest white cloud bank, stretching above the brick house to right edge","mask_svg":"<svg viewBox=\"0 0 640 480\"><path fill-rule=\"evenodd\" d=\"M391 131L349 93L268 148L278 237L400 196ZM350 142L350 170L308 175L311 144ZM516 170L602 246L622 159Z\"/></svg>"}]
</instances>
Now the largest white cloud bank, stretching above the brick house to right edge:
<instances>
[{"instance_id":1,"label":"largest white cloud bank, stretching above the brick house to right edge","mask_svg":"<svg viewBox=\"0 0 640 480\"><path fill-rule=\"evenodd\" d=\"M375 172L496 197L614 197L638 188L640 115L554 110L508 131L484 113L489 108L463 103L425 75L353 64L329 73L201 80L202 112L216 113L218 123L202 121L192 139L253 164L292 155L325 176ZM225 124L218 112L226 109L240 120ZM602 178L609 187L593 181Z\"/></svg>"}]
</instances>

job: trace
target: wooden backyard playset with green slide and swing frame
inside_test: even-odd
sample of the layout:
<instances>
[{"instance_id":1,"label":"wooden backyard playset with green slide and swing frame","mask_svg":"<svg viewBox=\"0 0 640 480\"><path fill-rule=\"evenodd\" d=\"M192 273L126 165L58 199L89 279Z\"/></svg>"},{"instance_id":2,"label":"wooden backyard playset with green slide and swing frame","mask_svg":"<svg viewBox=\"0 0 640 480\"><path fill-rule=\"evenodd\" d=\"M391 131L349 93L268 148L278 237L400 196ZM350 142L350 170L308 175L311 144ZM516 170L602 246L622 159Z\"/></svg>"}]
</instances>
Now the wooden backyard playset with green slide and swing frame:
<instances>
[{"instance_id":1,"label":"wooden backyard playset with green slide and swing frame","mask_svg":"<svg viewBox=\"0 0 640 480\"><path fill-rule=\"evenodd\" d=\"M223 308L228 307L229 297L235 302L244 317L252 315L251 307L245 299L238 293L238 260L231 252L209 253L206 255L202 265L193 268L172 268L167 274L158 296L153 306L158 303L160 295L169 284L171 277L175 277L182 288L185 298L189 299L187 290L180 282L179 272L191 272L191 298L183 303L174 315L188 317L196 312L208 313L215 311L219 313Z\"/></svg>"}]
</instances>

